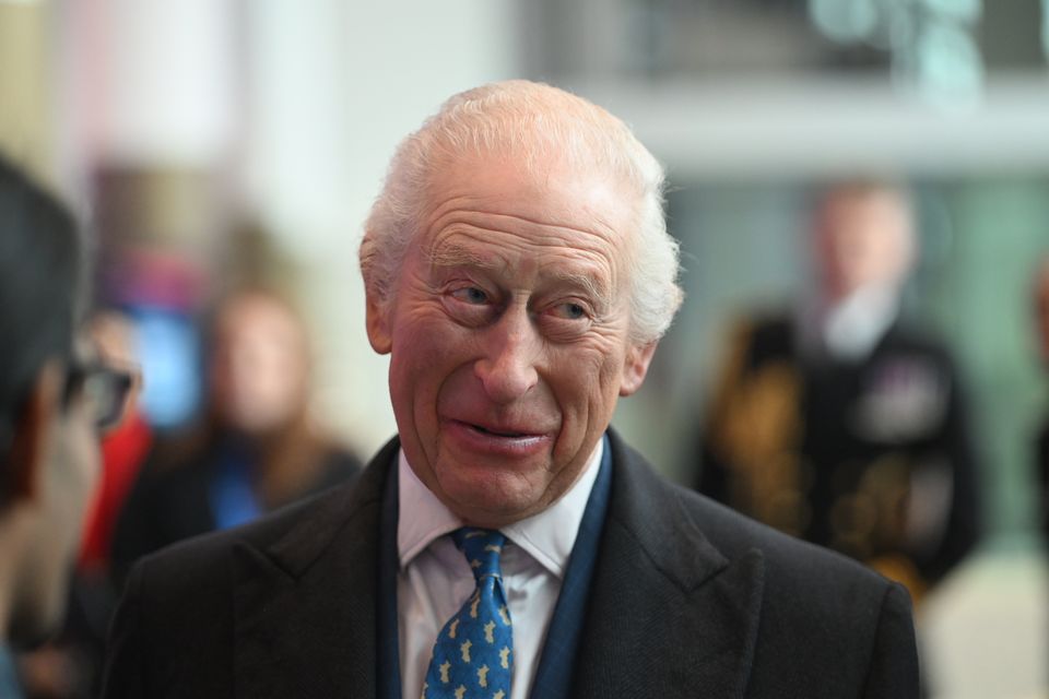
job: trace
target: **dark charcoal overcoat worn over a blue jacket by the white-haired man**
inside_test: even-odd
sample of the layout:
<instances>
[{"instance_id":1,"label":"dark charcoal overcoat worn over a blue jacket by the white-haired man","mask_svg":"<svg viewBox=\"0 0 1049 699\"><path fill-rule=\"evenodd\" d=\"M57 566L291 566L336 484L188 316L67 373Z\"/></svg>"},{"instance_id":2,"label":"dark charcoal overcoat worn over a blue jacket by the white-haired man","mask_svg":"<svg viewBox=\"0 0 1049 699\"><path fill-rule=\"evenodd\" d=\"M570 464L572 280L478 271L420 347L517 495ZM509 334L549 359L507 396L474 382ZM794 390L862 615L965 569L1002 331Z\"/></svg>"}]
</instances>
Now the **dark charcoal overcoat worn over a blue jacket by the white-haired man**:
<instances>
[{"instance_id":1,"label":"dark charcoal overcoat worn over a blue jacket by the white-haired man","mask_svg":"<svg viewBox=\"0 0 1049 699\"><path fill-rule=\"evenodd\" d=\"M574 697L918 696L907 593L658 476L614 434ZM141 561L104 696L373 697L382 485Z\"/></svg>"}]
</instances>

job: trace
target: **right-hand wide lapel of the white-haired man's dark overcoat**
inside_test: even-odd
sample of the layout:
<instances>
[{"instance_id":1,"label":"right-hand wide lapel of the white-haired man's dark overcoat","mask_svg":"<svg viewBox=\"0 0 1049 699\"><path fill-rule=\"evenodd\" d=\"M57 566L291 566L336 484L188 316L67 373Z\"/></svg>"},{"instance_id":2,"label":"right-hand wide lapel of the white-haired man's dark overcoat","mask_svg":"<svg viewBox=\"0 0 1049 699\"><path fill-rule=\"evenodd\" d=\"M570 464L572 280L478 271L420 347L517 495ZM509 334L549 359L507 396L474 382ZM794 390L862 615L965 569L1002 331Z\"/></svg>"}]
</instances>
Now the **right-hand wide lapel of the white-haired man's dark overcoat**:
<instances>
[{"instance_id":1,"label":"right-hand wide lapel of the white-haired man's dark overcoat","mask_svg":"<svg viewBox=\"0 0 1049 699\"><path fill-rule=\"evenodd\" d=\"M612 445L612 497L573 696L742 697L762 554L727 559L681 494L614 434Z\"/></svg>"}]
</instances>

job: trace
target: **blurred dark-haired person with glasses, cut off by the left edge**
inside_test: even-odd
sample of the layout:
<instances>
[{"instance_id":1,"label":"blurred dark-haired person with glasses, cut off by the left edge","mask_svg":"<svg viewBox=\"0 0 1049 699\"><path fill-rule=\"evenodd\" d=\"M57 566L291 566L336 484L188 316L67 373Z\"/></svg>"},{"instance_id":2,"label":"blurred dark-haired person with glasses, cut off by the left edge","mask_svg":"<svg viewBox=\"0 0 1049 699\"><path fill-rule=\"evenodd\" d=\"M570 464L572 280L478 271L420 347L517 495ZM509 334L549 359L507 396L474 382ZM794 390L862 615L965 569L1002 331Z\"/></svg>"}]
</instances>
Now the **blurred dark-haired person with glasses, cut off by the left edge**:
<instances>
[{"instance_id":1,"label":"blurred dark-haired person with glasses, cut off by the left edge","mask_svg":"<svg viewBox=\"0 0 1049 699\"><path fill-rule=\"evenodd\" d=\"M82 247L70 214L0 158L0 697L22 696L12 647L62 624L98 477L99 430L131 375L76 341Z\"/></svg>"}]
</instances>

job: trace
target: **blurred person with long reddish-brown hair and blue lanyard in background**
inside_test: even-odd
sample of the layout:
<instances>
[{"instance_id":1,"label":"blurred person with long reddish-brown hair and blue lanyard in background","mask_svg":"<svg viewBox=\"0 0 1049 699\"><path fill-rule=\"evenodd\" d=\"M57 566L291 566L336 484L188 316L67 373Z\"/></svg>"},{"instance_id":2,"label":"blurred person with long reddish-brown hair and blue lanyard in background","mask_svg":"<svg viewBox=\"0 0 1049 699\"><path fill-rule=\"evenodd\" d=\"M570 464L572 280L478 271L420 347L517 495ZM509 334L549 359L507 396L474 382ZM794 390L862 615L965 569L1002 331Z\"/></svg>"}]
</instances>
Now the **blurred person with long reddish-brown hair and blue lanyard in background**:
<instances>
[{"instance_id":1,"label":"blurred person with long reddish-brown hair and blue lanyard in background","mask_svg":"<svg viewBox=\"0 0 1049 699\"><path fill-rule=\"evenodd\" d=\"M118 582L141 556L325 490L361 469L308 415L310 348L292 307L262 289L220 304L201 430L157 442L117 525Z\"/></svg>"}]
</instances>

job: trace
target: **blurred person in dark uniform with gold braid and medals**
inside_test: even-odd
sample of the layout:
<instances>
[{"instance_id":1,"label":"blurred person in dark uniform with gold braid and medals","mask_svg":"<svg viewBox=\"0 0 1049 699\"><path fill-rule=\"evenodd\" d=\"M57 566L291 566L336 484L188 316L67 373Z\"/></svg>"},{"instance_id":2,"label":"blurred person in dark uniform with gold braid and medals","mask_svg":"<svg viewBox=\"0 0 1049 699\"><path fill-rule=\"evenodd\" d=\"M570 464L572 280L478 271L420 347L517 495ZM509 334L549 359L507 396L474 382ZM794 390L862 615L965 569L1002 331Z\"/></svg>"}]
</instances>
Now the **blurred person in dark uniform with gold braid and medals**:
<instances>
[{"instance_id":1,"label":"blurred person in dark uniform with gold braid and medals","mask_svg":"<svg viewBox=\"0 0 1049 699\"><path fill-rule=\"evenodd\" d=\"M891 185L823 192L815 298L735 331L698 488L865 561L919 600L976 544L979 509L954 363L899 313L914 227Z\"/></svg>"}]
</instances>

